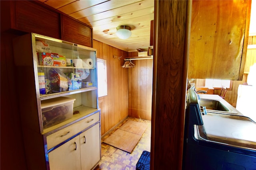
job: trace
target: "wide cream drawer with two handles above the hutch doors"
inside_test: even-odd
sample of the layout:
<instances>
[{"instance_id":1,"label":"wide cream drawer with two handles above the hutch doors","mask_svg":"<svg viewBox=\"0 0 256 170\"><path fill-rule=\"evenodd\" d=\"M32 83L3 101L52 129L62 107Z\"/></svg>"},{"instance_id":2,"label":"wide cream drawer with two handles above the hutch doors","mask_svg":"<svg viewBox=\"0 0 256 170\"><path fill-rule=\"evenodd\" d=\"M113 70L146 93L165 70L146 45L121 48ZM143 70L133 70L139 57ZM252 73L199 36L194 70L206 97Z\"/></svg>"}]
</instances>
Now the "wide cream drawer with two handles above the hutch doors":
<instances>
[{"instance_id":1,"label":"wide cream drawer with two handles above the hutch doors","mask_svg":"<svg viewBox=\"0 0 256 170\"><path fill-rule=\"evenodd\" d=\"M58 145L59 143L67 140L68 138L76 135L77 133L81 132L83 129L86 129L90 125L96 123L100 120L100 112L97 112L81 121L78 121L64 129L61 129L55 133L46 137L47 141L47 149L51 149L52 147Z\"/></svg>"}]
</instances>

